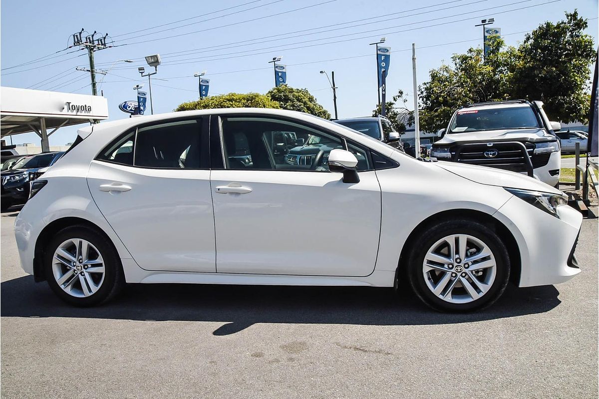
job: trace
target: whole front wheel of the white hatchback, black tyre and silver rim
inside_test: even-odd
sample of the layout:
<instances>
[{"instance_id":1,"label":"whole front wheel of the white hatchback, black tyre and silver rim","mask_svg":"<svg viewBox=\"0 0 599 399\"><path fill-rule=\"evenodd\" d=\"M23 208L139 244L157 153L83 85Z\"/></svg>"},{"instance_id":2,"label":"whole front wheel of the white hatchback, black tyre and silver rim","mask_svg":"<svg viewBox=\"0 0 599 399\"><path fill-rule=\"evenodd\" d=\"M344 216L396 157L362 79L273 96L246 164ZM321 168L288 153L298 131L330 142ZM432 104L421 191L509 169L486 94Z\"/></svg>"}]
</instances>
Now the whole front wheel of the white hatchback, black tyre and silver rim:
<instances>
[{"instance_id":1,"label":"whole front wheel of the white hatchback, black tyre and silver rim","mask_svg":"<svg viewBox=\"0 0 599 399\"><path fill-rule=\"evenodd\" d=\"M407 264L416 295L436 310L467 312L494 303L506 289L510 260L491 228L449 220L418 237Z\"/></svg>"}]
</instances>

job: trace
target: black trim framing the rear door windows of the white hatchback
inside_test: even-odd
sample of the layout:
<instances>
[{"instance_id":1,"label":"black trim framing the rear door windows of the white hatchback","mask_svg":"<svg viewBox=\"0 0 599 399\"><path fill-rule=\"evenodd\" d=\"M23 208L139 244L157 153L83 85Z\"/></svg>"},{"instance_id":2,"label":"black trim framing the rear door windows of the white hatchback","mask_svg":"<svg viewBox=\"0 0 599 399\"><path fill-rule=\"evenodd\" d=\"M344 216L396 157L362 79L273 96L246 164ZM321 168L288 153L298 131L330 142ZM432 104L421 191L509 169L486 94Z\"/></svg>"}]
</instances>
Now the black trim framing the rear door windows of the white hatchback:
<instances>
[{"instance_id":1,"label":"black trim framing the rear door windows of the white hatchback","mask_svg":"<svg viewBox=\"0 0 599 399\"><path fill-rule=\"evenodd\" d=\"M190 120L195 120L198 122L200 129L199 129L199 152L200 152L200 166L204 166L204 167L155 167L155 166L138 166L135 165L135 145L137 144L137 132L139 129L144 128L144 127L151 127L151 126L157 126L160 124L165 124L165 123L174 123L174 122L179 122L179 121L190 121ZM205 126L208 125L208 126ZM208 130L206 130L208 129ZM156 169L156 170L210 170L210 163L208 161L208 157L210 156L210 152L209 152L209 148L204 148L204 146L202 145L202 143L204 142L204 136L208 134L210 129L210 115L196 115L193 117L174 117L174 118L168 118L168 119L161 119L161 120L154 120L154 121L150 121L150 122L146 122L146 123L140 123L137 124L135 126L129 126L124 132L120 133L120 135L116 136L116 138L114 138L113 140L111 140L107 145L105 145L104 147L102 147L102 149L100 151L98 151L98 153L96 154L95 157L93 157L93 160L95 161L99 161L99 162L106 162L106 163L112 163L114 165L121 165L121 166L127 166L127 167L135 167L137 169ZM108 147L110 147L111 145L113 145L114 143L118 142L120 139L124 138L125 136L131 134L132 130L135 130L135 138L134 138L134 144L133 144L133 165L126 165L124 163L119 163L119 162L114 162L111 160L107 160L107 159L99 159L99 157L104 154L104 151L107 150Z\"/></svg>"}]
</instances>

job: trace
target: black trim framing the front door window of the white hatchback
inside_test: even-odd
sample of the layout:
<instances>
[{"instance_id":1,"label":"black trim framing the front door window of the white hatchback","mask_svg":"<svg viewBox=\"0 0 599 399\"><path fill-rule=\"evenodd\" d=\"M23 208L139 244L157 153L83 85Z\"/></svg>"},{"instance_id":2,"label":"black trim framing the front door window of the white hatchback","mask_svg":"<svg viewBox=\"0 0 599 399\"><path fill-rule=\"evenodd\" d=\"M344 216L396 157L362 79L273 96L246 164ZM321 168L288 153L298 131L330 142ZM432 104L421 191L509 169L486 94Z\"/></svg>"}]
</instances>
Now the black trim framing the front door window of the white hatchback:
<instances>
[{"instance_id":1,"label":"black trim framing the front door window of the white hatchback","mask_svg":"<svg viewBox=\"0 0 599 399\"><path fill-rule=\"evenodd\" d=\"M295 118L291 118L288 117L286 115L271 115L271 114L259 114L259 113L234 113L231 112L229 113L222 113L222 114L218 114L215 115L218 118L218 140L220 141L220 153L221 153L221 157L222 157L222 163L223 163L223 168L219 168L219 169L224 169L224 170L244 170L244 169L229 169L228 167L226 167L226 162L225 162L225 146L223 145L224 142L224 138L223 138L223 129L222 129L222 120L223 118L226 117L230 117L230 118L252 118L252 117L257 117L257 118L270 118L270 119L274 119L274 120L283 120L283 121L288 121L288 122L292 122L295 124L298 124L300 126L307 126L310 127L310 129L313 130L317 130L317 131L322 131L323 133L326 133L327 135L331 135L334 138L339 139L343 145L344 145L344 149L346 151L347 150L347 143L349 142L349 144L358 147L359 149L361 149L362 151L364 151L364 154L366 155L367 159L368 159L368 165L370 166L368 169L364 169L364 170L358 170L358 173L362 173L362 172L372 172L374 169L374 165L373 165L373 160L370 154L370 147L365 147L362 144L359 144L355 141L352 140L348 140L347 138L345 138L344 136L339 135L339 133L337 132L333 132L332 130L326 129L325 127L322 127L318 124L315 123L310 123L310 122L306 122L306 121L298 121ZM213 139L213 137L211 136L211 139ZM316 173L332 173L329 170L310 170L310 169L298 169L298 170L286 170L286 169L247 169L247 170L256 170L256 171L262 171L262 172L316 172Z\"/></svg>"}]
</instances>

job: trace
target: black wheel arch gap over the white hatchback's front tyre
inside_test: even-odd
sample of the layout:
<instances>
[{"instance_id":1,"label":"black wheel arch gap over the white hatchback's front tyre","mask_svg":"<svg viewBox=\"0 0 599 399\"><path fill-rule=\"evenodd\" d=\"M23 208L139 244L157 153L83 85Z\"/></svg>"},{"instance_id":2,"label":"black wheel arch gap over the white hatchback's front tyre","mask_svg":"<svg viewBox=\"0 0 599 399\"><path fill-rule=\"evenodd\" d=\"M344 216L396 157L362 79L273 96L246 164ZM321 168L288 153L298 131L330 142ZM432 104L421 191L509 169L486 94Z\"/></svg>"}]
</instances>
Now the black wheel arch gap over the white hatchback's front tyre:
<instances>
[{"instance_id":1,"label":"black wheel arch gap over the white hatchback's front tyre","mask_svg":"<svg viewBox=\"0 0 599 399\"><path fill-rule=\"evenodd\" d=\"M406 244L401 248L400 259L395 273L395 284L397 284L398 281L407 281L407 260L410 256L410 250L412 249L412 246L409 245L409 243L414 242L414 240L416 240L429 226L451 218L468 219L483 223L504 239L507 253L510 257L510 281L518 284L522 270L522 260L518 242L512 232L510 232L506 225L501 223L501 221L486 212L476 211L474 209L450 209L441 211L421 221L418 226L412 230L406 239Z\"/></svg>"}]
</instances>

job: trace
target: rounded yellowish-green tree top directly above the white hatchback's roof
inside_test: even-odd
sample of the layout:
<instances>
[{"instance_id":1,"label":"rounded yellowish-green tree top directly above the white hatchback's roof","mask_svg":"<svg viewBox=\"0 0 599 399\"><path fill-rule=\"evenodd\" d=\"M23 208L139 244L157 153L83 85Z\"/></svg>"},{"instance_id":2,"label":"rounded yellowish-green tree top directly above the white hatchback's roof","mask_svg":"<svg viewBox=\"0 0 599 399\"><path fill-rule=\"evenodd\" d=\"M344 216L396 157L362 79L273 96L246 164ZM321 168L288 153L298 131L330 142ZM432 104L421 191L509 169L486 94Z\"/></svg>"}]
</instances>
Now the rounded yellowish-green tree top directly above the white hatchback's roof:
<instances>
[{"instance_id":1,"label":"rounded yellowish-green tree top directly above the white hatchback's roof","mask_svg":"<svg viewBox=\"0 0 599 399\"><path fill-rule=\"evenodd\" d=\"M281 108L279 103L258 93L228 93L181 103L175 111L211 108Z\"/></svg>"}]
</instances>

